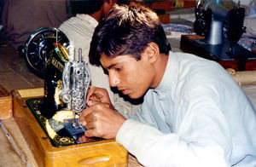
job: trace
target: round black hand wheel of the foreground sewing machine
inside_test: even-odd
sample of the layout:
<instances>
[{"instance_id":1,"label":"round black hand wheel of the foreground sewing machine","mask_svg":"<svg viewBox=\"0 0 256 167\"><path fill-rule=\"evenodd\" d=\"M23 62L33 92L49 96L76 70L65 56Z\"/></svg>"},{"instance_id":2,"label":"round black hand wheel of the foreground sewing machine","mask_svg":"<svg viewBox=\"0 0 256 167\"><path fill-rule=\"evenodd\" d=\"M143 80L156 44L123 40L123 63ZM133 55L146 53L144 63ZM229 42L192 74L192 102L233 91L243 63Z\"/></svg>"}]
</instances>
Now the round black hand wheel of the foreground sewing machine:
<instances>
[{"instance_id":1,"label":"round black hand wheel of the foreground sewing machine","mask_svg":"<svg viewBox=\"0 0 256 167\"><path fill-rule=\"evenodd\" d=\"M26 40L26 65L38 77L44 78L44 70L50 53L55 49L54 43L69 43L67 36L60 30L52 27L39 28Z\"/></svg>"}]
</instances>

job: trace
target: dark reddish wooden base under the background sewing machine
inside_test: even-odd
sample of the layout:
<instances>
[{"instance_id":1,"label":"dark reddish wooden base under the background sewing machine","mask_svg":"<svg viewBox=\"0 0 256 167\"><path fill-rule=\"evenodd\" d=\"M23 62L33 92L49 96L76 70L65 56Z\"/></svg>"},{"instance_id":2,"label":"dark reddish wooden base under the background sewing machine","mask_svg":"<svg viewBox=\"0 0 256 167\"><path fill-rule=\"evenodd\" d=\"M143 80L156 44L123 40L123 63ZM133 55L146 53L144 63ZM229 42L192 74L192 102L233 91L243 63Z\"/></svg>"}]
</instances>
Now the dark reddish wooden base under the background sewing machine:
<instances>
[{"instance_id":1,"label":"dark reddish wooden base under the background sewing machine","mask_svg":"<svg viewBox=\"0 0 256 167\"><path fill-rule=\"evenodd\" d=\"M256 55L255 57L248 56L252 55L250 51L245 50L242 59L236 58L236 56L232 58L232 55L230 55L231 59L229 57L218 56L209 51L210 47L207 47L207 45L204 47L204 45L201 44L204 38L205 37L199 35L182 35L180 49L182 49L183 52L198 55L208 60L215 60L225 69L233 68L236 71L256 70Z\"/></svg>"}]
</instances>

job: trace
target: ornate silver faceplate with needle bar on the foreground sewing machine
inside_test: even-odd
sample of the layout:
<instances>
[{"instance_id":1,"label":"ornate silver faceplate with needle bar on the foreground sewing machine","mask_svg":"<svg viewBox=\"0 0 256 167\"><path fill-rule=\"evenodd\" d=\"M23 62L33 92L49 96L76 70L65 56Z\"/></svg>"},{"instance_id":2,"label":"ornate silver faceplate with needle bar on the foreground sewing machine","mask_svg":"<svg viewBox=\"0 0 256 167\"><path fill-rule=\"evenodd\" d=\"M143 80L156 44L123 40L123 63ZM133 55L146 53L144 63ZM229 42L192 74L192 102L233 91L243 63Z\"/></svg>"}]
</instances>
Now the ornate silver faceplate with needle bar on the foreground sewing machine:
<instances>
[{"instance_id":1,"label":"ornate silver faceplate with needle bar on the foreground sewing machine","mask_svg":"<svg viewBox=\"0 0 256 167\"><path fill-rule=\"evenodd\" d=\"M65 63L62 73L61 101L67 103L67 110L80 113L86 107L86 94L90 85L88 62L82 61L82 49L79 49L79 60L70 59ZM76 127L73 122L73 127Z\"/></svg>"}]
</instances>

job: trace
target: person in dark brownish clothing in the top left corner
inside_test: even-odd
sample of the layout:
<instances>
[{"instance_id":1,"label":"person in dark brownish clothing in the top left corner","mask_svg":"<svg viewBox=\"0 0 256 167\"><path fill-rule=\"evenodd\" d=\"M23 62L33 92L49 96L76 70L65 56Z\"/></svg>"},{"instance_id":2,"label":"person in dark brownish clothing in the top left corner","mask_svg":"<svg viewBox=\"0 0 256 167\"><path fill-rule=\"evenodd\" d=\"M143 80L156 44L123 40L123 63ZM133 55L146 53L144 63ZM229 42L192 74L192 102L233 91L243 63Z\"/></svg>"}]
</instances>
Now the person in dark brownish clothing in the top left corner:
<instances>
[{"instance_id":1,"label":"person in dark brownish clothing in the top left corner","mask_svg":"<svg viewBox=\"0 0 256 167\"><path fill-rule=\"evenodd\" d=\"M58 27L67 20L67 1L3 0L4 37L16 50L41 27Z\"/></svg>"}]
</instances>

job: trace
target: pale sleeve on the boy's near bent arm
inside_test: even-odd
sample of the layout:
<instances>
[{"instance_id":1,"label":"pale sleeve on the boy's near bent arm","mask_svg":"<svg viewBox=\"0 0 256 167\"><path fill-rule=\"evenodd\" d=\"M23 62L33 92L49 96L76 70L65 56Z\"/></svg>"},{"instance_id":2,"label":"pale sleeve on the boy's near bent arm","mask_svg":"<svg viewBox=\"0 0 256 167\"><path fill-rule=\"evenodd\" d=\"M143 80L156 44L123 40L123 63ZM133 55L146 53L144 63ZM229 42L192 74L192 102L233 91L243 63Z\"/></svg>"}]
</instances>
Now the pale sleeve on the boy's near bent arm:
<instances>
[{"instance_id":1,"label":"pale sleeve on the boy's near bent arm","mask_svg":"<svg viewBox=\"0 0 256 167\"><path fill-rule=\"evenodd\" d=\"M228 124L218 100L212 98L214 92L206 89L194 89L181 98L177 119L183 121L175 133L164 134L148 124L127 119L116 141L145 166L230 166Z\"/></svg>"}]
</instances>

